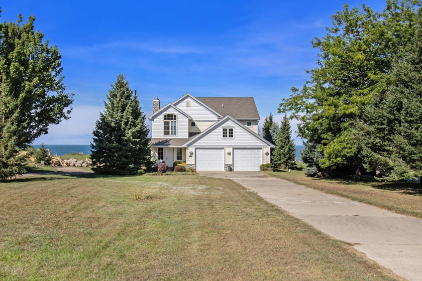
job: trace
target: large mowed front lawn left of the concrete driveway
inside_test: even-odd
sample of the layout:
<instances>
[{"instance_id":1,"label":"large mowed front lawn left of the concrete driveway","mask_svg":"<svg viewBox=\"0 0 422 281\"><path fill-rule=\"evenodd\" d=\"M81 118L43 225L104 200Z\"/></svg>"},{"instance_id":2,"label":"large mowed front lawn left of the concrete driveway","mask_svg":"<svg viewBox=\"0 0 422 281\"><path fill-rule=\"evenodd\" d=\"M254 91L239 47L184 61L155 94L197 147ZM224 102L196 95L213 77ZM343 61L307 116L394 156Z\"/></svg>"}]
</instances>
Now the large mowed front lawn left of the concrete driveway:
<instances>
[{"instance_id":1,"label":"large mowed front lawn left of the concrete driveway","mask_svg":"<svg viewBox=\"0 0 422 281\"><path fill-rule=\"evenodd\" d=\"M0 206L5 280L400 279L228 180L24 178Z\"/></svg>"}]
</instances>

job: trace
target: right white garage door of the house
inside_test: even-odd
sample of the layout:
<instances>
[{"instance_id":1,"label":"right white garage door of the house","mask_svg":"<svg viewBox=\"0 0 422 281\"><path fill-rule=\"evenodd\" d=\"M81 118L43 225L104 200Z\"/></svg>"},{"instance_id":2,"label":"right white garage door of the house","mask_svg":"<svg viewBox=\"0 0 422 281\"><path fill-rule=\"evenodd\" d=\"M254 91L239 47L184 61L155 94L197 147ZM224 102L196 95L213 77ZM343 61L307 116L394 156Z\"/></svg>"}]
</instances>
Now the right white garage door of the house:
<instances>
[{"instance_id":1,"label":"right white garage door of the house","mask_svg":"<svg viewBox=\"0 0 422 281\"><path fill-rule=\"evenodd\" d=\"M261 149L234 149L234 171L259 171L261 165Z\"/></svg>"}]
</instances>

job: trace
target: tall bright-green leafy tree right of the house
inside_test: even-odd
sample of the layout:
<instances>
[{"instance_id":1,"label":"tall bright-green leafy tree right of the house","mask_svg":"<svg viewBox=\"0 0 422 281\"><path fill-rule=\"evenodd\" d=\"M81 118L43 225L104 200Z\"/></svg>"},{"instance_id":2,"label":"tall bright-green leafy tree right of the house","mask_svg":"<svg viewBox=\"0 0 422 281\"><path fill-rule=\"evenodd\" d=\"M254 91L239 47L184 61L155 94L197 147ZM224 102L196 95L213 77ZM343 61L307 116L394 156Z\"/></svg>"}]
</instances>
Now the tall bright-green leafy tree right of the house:
<instances>
[{"instance_id":1,"label":"tall bright-green leafy tree right of the house","mask_svg":"<svg viewBox=\"0 0 422 281\"><path fill-rule=\"evenodd\" d=\"M292 88L279 112L301 121L299 135L318 145L323 168L360 167L352 129L363 107L385 92L392 57L414 40L416 0L388 0L382 13L363 5L332 16L327 35L312 40L319 50L316 68L302 89ZM358 173L358 171L357 171Z\"/></svg>"}]
</instances>

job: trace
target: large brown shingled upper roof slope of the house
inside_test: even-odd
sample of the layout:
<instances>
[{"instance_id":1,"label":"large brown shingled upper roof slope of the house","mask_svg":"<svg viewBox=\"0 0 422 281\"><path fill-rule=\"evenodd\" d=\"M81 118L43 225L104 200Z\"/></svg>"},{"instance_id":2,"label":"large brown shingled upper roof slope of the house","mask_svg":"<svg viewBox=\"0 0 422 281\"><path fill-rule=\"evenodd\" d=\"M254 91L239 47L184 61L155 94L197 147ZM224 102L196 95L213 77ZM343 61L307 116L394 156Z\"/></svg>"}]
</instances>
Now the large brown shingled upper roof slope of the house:
<instances>
[{"instance_id":1,"label":"large brown shingled upper roof slope of the house","mask_svg":"<svg viewBox=\"0 0 422 281\"><path fill-rule=\"evenodd\" d=\"M253 97L198 97L208 107L222 116L230 115L236 119L259 119Z\"/></svg>"}]
</instances>

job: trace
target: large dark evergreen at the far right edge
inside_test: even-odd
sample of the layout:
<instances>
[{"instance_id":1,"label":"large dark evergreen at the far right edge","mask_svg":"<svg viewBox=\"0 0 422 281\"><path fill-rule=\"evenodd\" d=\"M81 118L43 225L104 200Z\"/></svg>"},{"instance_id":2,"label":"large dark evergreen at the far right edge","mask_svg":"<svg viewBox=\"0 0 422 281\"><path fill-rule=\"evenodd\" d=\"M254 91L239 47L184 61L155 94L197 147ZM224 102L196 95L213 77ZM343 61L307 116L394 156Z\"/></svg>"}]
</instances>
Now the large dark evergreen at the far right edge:
<instances>
[{"instance_id":1,"label":"large dark evergreen at the far right edge","mask_svg":"<svg viewBox=\"0 0 422 281\"><path fill-rule=\"evenodd\" d=\"M364 108L354 130L365 168L393 172L387 180L422 176L422 9L415 42L398 56L385 93Z\"/></svg>"}]
</instances>

